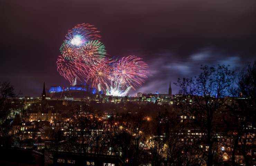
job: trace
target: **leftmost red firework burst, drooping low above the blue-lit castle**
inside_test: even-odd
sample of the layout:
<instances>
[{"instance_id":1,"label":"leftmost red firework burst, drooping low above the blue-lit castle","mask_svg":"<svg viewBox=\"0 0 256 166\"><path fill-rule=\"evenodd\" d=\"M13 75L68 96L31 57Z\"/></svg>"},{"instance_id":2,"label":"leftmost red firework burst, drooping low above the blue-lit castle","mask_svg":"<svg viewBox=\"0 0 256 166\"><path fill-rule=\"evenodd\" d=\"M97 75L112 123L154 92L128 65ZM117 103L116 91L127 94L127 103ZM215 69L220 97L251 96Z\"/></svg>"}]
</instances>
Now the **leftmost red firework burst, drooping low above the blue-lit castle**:
<instances>
[{"instance_id":1,"label":"leftmost red firework burst, drooping low above the blue-lit castle","mask_svg":"<svg viewBox=\"0 0 256 166\"><path fill-rule=\"evenodd\" d=\"M83 61L74 60L70 61L63 56L59 56L57 59L57 71L66 79L72 83L77 78L80 81L86 80L88 77L88 66Z\"/></svg>"}]
</instances>

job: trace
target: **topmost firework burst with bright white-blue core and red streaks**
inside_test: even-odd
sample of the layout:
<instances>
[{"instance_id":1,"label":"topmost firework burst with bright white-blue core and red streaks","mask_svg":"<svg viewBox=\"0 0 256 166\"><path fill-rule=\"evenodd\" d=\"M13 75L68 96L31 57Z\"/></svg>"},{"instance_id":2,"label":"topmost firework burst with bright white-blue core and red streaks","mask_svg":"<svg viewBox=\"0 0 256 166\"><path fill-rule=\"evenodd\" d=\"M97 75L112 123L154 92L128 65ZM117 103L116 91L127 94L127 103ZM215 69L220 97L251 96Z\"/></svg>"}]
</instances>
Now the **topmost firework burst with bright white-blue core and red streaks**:
<instances>
[{"instance_id":1,"label":"topmost firework burst with bright white-blue core and red streaks","mask_svg":"<svg viewBox=\"0 0 256 166\"><path fill-rule=\"evenodd\" d=\"M66 42L73 48L79 48L90 40L100 40L100 31L90 24L78 24L71 30L68 30Z\"/></svg>"}]
</instances>

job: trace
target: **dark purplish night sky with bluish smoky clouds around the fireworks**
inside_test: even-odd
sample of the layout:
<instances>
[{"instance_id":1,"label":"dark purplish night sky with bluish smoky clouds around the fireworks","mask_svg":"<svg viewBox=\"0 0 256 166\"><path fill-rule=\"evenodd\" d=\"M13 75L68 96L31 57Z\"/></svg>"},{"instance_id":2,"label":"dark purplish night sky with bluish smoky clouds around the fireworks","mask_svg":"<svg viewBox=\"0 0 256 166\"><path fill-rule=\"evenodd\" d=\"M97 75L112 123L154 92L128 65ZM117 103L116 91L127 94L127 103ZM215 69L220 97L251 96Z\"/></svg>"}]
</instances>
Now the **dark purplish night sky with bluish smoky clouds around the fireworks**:
<instances>
[{"instance_id":1,"label":"dark purplish night sky with bluish smoky clouds around the fireworks","mask_svg":"<svg viewBox=\"0 0 256 166\"><path fill-rule=\"evenodd\" d=\"M147 62L137 92L168 93L171 81L177 93L173 82L201 64L239 69L256 59L255 0L1 0L0 13L0 81L22 96L39 96L43 82L69 84L56 60L67 30L84 22L101 31L111 56Z\"/></svg>"}]
</instances>

